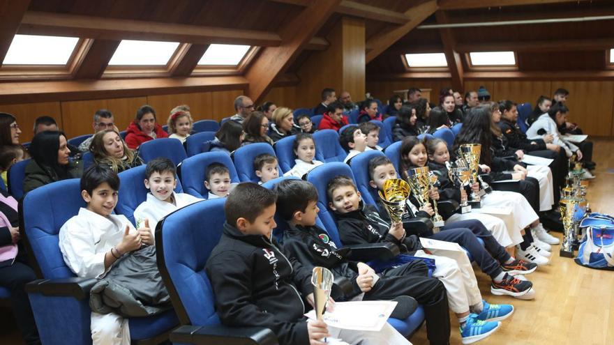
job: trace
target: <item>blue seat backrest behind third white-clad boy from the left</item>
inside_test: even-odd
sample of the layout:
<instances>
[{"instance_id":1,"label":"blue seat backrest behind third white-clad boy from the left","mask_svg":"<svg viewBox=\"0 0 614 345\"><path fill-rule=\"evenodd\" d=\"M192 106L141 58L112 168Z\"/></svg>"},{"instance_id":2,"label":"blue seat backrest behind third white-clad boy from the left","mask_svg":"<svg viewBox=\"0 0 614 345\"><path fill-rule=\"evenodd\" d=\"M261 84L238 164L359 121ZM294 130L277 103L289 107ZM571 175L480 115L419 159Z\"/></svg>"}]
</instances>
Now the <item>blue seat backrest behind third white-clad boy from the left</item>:
<instances>
[{"instance_id":1,"label":"blue seat backrest behind third white-clad boy from the left","mask_svg":"<svg viewBox=\"0 0 614 345\"><path fill-rule=\"evenodd\" d=\"M234 169L230 155L218 151L199 153L181 163L181 184L186 193L207 199L209 191L204 187L204 174L207 172L207 167L213 163L224 164L230 171L230 181L239 182L237 169Z\"/></svg>"}]
</instances>

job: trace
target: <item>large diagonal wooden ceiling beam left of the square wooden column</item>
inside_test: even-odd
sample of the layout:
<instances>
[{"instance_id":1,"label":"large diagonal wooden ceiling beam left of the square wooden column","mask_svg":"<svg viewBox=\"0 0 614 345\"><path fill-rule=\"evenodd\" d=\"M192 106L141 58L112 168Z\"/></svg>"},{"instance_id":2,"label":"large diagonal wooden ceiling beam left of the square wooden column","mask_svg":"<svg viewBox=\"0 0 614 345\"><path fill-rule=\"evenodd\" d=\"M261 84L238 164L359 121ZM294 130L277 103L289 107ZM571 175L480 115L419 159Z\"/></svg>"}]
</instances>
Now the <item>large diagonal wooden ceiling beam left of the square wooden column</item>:
<instances>
[{"instance_id":1,"label":"large diagonal wooden ceiling beam left of the square wooden column","mask_svg":"<svg viewBox=\"0 0 614 345\"><path fill-rule=\"evenodd\" d=\"M264 47L247 70L247 95L260 102L271 89L275 79L282 75L320 27L335 12L340 0L314 0L301 13L280 29L279 47Z\"/></svg>"}]
</instances>

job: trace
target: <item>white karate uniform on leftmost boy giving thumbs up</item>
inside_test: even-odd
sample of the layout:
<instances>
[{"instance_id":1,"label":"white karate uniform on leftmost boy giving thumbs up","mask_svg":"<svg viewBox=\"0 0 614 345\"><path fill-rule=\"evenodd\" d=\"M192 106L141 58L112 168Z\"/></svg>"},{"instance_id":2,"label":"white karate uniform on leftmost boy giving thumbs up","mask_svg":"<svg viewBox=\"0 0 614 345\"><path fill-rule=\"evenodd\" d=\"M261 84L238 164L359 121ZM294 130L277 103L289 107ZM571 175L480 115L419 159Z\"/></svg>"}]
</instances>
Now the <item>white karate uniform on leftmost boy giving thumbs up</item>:
<instances>
[{"instance_id":1,"label":"white karate uniform on leftmost boy giving thumbs up","mask_svg":"<svg viewBox=\"0 0 614 345\"><path fill-rule=\"evenodd\" d=\"M70 218L60 229L59 247L64 262L79 277L104 277L105 254L123 239L126 226L136 231L123 215L103 217L87 208ZM91 339L94 345L130 345L128 319L118 314L91 313Z\"/></svg>"}]
</instances>

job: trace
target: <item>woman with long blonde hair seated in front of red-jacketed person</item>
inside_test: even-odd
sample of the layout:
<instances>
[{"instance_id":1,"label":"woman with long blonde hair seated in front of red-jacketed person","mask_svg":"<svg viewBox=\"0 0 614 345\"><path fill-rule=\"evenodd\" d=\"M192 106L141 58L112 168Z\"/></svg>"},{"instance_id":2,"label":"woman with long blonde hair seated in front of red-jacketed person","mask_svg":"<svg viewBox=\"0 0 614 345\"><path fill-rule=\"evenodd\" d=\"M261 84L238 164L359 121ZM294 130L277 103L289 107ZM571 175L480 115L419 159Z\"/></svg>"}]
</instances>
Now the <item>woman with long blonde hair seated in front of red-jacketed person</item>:
<instances>
[{"instance_id":1,"label":"woman with long blonde hair seated in front of red-jacketed person","mask_svg":"<svg viewBox=\"0 0 614 345\"><path fill-rule=\"evenodd\" d=\"M120 173L143 164L139 155L128 148L115 130L101 130L93 136L89 151L96 164L103 164Z\"/></svg>"}]
</instances>

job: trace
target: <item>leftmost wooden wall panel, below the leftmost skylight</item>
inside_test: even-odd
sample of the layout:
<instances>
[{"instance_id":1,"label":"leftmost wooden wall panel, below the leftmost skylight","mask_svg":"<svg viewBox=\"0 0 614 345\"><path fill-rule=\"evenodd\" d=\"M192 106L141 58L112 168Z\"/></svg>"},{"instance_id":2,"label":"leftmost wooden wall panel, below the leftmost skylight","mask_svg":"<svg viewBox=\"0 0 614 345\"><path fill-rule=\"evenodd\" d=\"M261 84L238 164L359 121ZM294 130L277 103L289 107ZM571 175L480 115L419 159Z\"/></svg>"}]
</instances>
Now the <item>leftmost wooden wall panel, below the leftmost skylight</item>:
<instances>
[{"instance_id":1,"label":"leftmost wooden wall panel, below the leftmost skylight","mask_svg":"<svg viewBox=\"0 0 614 345\"><path fill-rule=\"evenodd\" d=\"M38 116L51 116L55 118L55 121L60 128L62 128L60 102L0 105L0 112L13 114L13 116L17 118L17 125L19 125L20 130L22 130L22 134L20 135L20 142L22 143L30 141L34 136L34 121Z\"/></svg>"}]
</instances>

